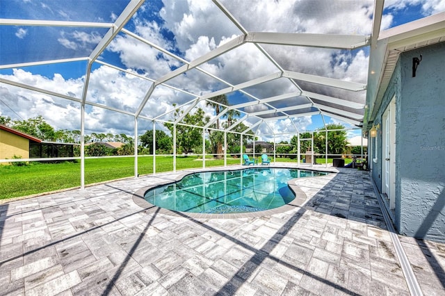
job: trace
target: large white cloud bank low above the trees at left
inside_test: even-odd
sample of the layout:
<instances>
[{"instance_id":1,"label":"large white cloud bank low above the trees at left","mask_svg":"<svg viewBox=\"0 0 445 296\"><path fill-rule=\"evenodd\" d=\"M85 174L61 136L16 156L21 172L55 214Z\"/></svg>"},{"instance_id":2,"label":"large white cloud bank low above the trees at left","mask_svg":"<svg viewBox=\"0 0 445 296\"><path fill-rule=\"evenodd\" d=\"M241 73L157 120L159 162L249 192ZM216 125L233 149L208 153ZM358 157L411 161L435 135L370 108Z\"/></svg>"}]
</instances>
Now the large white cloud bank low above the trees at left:
<instances>
[{"instance_id":1,"label":"large white cloud bank low above the trees at left","mask_svg":"<svg viewBox=\"0 0 445 296\"><path fill-rule=\"evenodd\" d=\"M12 75L0 75L0 77L76 98L81 97L83 88L82 77L64 79L60 74L54 74L54 77L49 79L22 69L15 69ZM143 81L135 76L122 74L102 66L95 69L90 76L87 101L135 112L150 84L149 81ZM55 129L80 129L80 104L76 101L52 97L48 94L15 88L10 85L1 85L0 94L3 101L21 118L8 108L1 108L1 115L10 116L13 120L42 115ZM170 88L159 87L147 102L144 114L154 117L172 108L172 103L185 102L190 99L190 96L185 97L184 94ZM134 121L133 117L129 115L87 105L85 118L87 132L133 133Z\"/></svg>"}]
</instances>

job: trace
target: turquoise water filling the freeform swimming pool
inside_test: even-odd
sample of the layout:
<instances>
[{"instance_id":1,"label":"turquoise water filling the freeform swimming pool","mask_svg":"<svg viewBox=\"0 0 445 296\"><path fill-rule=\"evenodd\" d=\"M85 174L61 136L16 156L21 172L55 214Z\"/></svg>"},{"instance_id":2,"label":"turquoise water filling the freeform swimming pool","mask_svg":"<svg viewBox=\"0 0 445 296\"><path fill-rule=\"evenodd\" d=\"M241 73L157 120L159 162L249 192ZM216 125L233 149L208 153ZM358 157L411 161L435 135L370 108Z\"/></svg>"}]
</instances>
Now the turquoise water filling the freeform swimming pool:
<instances>
[{"instance_id":1,"label":"turquoise water filling the freeform swimming pool","mask_svg":"<svg viewBox=\"0 0 445 296\"><path fill-rule=\"evenodd\" d=\"M181 181L145 192L147 202L172 211L188 213L248 213L284 206L295 195L290 179L320 176L286 168L251 168L189 174Z\"/></svg>"}]
</instances>

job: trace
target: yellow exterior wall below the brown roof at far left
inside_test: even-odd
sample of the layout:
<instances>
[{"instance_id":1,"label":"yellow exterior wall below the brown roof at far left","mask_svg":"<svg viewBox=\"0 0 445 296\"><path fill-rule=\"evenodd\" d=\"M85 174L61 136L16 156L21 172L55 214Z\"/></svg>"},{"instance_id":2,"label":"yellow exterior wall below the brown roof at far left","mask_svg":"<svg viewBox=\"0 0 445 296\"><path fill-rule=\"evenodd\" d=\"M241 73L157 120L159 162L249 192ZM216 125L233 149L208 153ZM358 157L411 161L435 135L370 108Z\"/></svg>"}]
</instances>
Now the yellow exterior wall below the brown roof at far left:
<instances>
[{"instance_id":1,"label":"yellow exterior wall below the brown roof at far left","mask_svg":"<svg viewBox=\"0 0 445 296\"><path fill-rule=\"evenodd\" d=\"M0 159L13 158L13 156L29 158L29 140L0 130Z\"/></svg>"}]
</instances>

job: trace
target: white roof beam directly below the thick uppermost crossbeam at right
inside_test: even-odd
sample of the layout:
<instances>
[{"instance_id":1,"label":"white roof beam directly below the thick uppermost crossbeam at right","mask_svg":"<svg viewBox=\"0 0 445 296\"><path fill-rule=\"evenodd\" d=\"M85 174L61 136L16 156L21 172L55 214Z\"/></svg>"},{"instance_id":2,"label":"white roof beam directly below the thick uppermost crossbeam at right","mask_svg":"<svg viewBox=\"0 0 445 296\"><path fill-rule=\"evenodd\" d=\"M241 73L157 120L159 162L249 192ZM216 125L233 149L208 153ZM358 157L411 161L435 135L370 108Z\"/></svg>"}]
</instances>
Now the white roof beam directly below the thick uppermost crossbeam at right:
<instances>
[{"instance_id":1,"label":"white roof beam directly below the thick uppermost crossbeam at right","mask_svg":"<svg viewBox=\"0 0 445 296\"><path fill-rule=\"evenodd\" d=\"M352 90L353 92L359 92L366 90L366 84L356 83L352 81L344 81L340 79L333 79L323 76L316 76L311 74L304 74L298 72L286 71L283 73L283 77L290 79L297 79L301 81L307 81L311 83L332 86L333 88L341 88L343 90Z\"/></svg>"}]
</instances>

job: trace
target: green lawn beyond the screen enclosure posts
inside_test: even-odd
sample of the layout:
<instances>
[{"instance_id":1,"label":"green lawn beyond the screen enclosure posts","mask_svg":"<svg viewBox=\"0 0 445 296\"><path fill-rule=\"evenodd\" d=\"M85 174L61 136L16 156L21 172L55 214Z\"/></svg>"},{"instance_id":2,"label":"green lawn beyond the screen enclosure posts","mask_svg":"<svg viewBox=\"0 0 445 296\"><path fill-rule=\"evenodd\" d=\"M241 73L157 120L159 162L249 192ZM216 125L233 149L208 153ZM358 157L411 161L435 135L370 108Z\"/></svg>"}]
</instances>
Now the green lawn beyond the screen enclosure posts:
<instances>
[{"instance_id":1,"label":"green lawn beyond the screen enclosure posts","mask_svg":"<svg viewBox=\"0 0 445 296\"><path fill-rule=\"evenodd\" d=\"M296 163L295 159L276 158L277 162ZM328 163L332 159L328 158ZM346 158L345 163L350 163ZM260 161L261 162L261 161ZM317 163L325 163L325 158L317 158ZM227 165L239 164L239 158L227 158ZM224 159L206 161L206 167L224 165ZM177 156L177 170L202 167L198 156ZM156 156L156 172L170 172L173 170L172 156ZM54 190L75 188L81 185L81 165L77 163L31 163L31 165L16 167L0 165L0 199L23 197L26 195L42 194ZM153 173L153 157L138 158L138 174ZM85 183L99 183L114 179L134 176L134 158L93 158L85 160Z\"/></svg>"}]
</instances>

